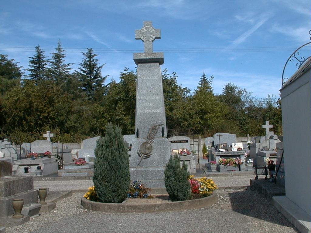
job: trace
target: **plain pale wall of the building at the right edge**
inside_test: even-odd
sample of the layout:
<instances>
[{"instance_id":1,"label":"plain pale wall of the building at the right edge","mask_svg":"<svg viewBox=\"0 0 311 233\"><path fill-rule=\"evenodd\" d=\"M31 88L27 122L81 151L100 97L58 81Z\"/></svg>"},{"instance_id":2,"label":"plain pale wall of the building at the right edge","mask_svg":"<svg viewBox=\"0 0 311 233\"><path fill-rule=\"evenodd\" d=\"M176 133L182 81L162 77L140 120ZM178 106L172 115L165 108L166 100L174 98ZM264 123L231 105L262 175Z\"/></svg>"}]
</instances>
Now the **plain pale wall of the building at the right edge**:
<instances>
[{"instance_id":1,"label":"plain pale wall of the building at the right edge","mask_svg":"<svg viewBox=\"0 0 311 233\"><path fill-rule=\"evenodd\" d=\"M310 76L309 69L281 89L286 197L308 214L311 214Z\"/></svg>"}]
</instances>

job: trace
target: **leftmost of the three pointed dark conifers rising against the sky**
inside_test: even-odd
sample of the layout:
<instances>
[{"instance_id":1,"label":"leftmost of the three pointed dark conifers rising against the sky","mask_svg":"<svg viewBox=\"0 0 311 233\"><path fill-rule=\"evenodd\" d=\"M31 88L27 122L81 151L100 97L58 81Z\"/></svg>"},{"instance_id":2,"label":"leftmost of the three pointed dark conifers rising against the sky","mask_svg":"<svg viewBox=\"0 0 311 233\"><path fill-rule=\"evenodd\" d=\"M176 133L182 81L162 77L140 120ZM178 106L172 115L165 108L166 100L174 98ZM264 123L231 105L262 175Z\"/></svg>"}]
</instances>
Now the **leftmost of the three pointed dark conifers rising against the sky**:
<instances>
[{"instance_id":1,"label":"leftmost of the three pointed dark conifers rising against the sky","mask_svg":"<svg viewBox=\"0 0 311 233\"><path fill-rule=\"evenodd\" d=\"M29 71L30 74L26 75L35 81L44 81L47 77L47 65L49 59L44 56L44 52L40 48L40 45L35 47L35 55L33 57L28 57L29 60L29 67L26 71Z\"/></svg>"}]
</instances>

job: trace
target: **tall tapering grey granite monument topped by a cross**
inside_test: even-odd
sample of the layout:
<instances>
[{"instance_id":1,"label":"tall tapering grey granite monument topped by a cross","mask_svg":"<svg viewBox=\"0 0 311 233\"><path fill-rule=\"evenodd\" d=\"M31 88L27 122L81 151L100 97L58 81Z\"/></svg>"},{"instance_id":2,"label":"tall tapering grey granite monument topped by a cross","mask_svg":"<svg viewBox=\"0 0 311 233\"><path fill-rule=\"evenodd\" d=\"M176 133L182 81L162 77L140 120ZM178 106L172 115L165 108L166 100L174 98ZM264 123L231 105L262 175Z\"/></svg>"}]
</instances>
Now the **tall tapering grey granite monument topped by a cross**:
<instances>
[{"instance_id":1,"label":"tall tapering grey granite monument topped by a cross","mask_svg":"<svg viewBox=\"0 0 311 233\"><path fill-rule=\"evenodd\" d=\"M135 39L144 42L144 53L133 55L138 68L131 179L141 180L148 187L164 188L165 165L170 158L160 69L164 56L152 51L152 42L160 39L160 30L154 29L151 21L144 21L142 29L135 30Z\"/></svg>"}]
</instances>

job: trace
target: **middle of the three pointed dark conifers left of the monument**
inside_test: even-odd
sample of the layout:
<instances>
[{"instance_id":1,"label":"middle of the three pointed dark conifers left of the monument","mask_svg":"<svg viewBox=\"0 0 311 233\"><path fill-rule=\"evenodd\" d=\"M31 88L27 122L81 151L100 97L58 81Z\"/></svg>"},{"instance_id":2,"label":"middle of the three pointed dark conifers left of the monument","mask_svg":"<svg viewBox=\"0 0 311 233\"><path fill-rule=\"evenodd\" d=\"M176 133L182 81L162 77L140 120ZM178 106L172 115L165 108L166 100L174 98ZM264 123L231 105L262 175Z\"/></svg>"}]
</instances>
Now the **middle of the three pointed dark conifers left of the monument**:
<instances>
[{"instance_id":1,"label":"middle of the three pointed dark conifers left of the monument","mask_svg":"<svg viewBox=\"0 0 311 233\"><path fill-rule=\"evenodd\" d=\"M57 83L62 83L65 81L71 70L70 66L72 64L65 63L65 50L63 50L60 40L58 40L57 48L55 53L51 53L52 58L50 61L50 75L52 80L55 80Z\"/></svg>"}]
</instances>

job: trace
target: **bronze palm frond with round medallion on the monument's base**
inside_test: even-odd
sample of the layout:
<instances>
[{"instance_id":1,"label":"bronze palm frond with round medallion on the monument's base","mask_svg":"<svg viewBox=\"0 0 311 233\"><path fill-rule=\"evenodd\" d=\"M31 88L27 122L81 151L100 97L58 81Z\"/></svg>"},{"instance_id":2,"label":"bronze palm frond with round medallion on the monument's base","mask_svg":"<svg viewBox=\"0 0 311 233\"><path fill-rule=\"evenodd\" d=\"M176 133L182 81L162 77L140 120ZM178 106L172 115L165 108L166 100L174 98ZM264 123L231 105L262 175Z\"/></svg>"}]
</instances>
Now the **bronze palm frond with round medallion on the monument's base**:
<instances>
[{"instance_id":1,"label":"bronze palm frond with round medallion on the monument's base","mask_svg":"<svg viewBox=\"0 0 311 233\"><path fill-rule=\"evenodd\" d=\"M150 126L149 131L147 133L147 139L146 142L143 142L138 151L137 154L140 157L140 161L138 162L137 166L142 162L143 159L150 158L152 155L152 143L156 137L156 133L159 130L160 126L163 124L153 124Z\"/></svg>"}]
</instances>

